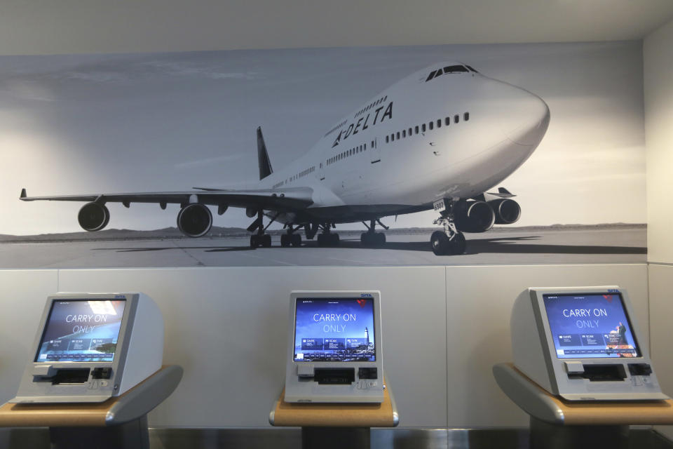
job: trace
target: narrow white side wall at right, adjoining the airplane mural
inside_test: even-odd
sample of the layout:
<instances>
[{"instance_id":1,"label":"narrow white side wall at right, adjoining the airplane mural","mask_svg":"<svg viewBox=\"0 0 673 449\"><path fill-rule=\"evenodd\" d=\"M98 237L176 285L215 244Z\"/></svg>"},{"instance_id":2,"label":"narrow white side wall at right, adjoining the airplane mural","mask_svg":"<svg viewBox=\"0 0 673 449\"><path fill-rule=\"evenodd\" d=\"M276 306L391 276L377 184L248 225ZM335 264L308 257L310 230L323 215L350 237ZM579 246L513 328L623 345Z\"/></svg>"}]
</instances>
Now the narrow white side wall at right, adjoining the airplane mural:
<instances>
[{"instance_id":1,"label":"narrow white side wall at right, adjoining the airplane mural","mask_svg":"<svg viewBox=\"0 0 673 449\"><path fill-rule=\"evenodd\" d=\"M646 36L643 57L652 358L673 395L673 21ZM673 438L673 427L658 429Z\"/></svg>"}]
</instances>

